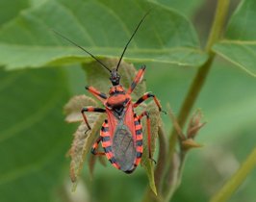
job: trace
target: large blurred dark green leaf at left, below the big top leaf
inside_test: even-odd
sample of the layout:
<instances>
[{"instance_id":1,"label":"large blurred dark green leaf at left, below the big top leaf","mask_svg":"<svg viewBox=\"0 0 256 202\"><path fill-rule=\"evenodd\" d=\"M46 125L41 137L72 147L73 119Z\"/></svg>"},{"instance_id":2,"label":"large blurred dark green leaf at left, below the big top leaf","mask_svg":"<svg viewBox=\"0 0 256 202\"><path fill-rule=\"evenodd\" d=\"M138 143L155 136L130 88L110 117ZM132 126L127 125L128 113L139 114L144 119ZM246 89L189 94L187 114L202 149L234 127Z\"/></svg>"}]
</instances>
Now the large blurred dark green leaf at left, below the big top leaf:
<instances>
[{"instance_id":1,"label":"large blurred dark green leaf at left, below the big top leaf","mask_svg":"<svg viewBox=\"0 0 256 202\"><path fill-rule=\"evenodd\" d=\"M63 121L63 70L0 71L0 201L51 201L70 130Z\"/></svg>"}]
</instances>

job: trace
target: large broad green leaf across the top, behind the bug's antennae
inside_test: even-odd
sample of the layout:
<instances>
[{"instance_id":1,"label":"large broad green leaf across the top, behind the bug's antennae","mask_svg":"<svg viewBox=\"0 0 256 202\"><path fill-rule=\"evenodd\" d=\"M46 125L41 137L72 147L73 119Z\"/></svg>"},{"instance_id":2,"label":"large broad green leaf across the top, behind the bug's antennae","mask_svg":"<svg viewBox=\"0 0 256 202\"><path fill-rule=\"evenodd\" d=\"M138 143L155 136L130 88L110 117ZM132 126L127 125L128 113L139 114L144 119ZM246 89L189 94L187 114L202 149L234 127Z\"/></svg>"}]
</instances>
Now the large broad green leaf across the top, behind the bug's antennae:
<instances>
[{"instance_id":1,"label":"large broad green leaf across the top, behind the bug's antennae","mask_svg":"<svg viewBox=\"0 0 256 202\"><path fill-rule=\"evenodd\" d=\"M92 61L88 54L50 29L74 40L97 57L120 57L142 15L152 7L154 10L145 18L125 58L192 66L204 63L207 56L199 48L190 21L158 4L136 0L46 1L3 27L0 63L15 69Z\"/></svg>"}]
</instances>

